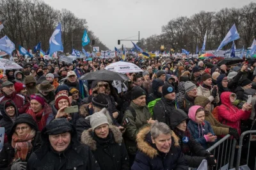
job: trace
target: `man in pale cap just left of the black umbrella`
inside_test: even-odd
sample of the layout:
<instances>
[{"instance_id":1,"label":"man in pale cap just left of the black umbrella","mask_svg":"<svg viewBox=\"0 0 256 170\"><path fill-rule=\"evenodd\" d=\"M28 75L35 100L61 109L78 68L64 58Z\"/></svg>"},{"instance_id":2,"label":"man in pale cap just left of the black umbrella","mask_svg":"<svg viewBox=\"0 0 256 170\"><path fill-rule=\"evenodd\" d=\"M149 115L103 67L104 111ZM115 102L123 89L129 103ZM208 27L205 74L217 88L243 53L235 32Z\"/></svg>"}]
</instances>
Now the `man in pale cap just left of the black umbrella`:
<instances>
[{"instance_id":1,"label":"man in pale cap just left of the black umbrella","mask_svg":"<svg viewBox=\"0 0 256 170\"><path fill-rule=\"evenodd\" d=\"M68 86L68 88L76 88L79 90L79 93L81 94L81 98L88 97L88 88L84 86L82 81L79 81L77 79L77 75L74 71L70 71L67 74L67 79L63 81L62 84L65 84Z\"/></svg>"}]
</instances>

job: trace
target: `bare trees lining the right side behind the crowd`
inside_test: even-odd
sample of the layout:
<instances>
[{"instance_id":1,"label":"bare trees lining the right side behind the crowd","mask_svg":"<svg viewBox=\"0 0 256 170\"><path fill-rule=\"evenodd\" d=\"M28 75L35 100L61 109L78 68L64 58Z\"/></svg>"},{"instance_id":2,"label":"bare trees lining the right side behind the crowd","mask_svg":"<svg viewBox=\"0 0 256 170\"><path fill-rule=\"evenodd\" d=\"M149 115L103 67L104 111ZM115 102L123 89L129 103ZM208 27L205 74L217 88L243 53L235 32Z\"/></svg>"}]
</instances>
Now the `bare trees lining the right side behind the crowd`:
<instances>
[{"instance_id":1,"label":"bare trees lining the right side behind the crowd","mask_svg":"<svg viewBox=\"0 0 256 170\"><path fill-rule=\"evenodd\" d=\"M140 40L140 47L148 51L159 50L164 45L168 51L174 49L189 50L192 53L202 48L204 36L207 31L205 50L217 49L221 41L227 35L229 29L236 24L239 40L236 47L251 47L253 38L256 38L256 3L250 3L242 8L223 8L219 12L201 11L191 17L178 17L162 26L161 35L152 35ZM228 43L222 49L230 49L232 43Z\"/></svg>"}]
</instances>

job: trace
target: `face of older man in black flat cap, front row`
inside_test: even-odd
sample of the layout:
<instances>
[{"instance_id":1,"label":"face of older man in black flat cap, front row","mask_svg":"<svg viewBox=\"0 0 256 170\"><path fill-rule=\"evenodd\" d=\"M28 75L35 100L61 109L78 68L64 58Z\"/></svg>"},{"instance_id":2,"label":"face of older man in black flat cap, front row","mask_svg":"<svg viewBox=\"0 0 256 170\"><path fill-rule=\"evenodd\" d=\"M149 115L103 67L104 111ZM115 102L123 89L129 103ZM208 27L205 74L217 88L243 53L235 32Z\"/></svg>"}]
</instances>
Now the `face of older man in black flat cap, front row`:
<instances>
[{"instance_id":1,"label":"face of older man in black flat cap, front row","mask_svg":"<svg viewBox=\"0 0 256 170\"><path fill-rule=\"evenodd\" d=\"M58 135L49 135L49 141L51 143L52 148L57 151L65 151L70 144L71 135L70 132L66 132Z\"/></svg>"}]
</instances>

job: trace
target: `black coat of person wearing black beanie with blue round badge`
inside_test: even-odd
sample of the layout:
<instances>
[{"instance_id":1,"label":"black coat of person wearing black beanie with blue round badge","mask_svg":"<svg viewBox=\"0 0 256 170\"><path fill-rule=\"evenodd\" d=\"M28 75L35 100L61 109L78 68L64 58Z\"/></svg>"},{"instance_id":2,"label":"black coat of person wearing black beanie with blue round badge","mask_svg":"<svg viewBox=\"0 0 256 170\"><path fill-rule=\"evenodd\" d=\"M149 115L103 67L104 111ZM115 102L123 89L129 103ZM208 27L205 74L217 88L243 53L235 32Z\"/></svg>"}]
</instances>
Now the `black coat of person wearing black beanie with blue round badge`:
<instances>
[{"instance_id":1,"label":"black coat of person wearing black beanie with blue round badge","mask_svg":"<svg viewBox=\"0 0 256 170\"><path fill-rule=\"evenodd\" d=\"M170 126L170 117L172 116L172 111L176 109L175 100L171 101L164 97L159 100L153 109L154 120L158 120L159 122L164 122L168 126Z\"/></svg>"}]
</instances>

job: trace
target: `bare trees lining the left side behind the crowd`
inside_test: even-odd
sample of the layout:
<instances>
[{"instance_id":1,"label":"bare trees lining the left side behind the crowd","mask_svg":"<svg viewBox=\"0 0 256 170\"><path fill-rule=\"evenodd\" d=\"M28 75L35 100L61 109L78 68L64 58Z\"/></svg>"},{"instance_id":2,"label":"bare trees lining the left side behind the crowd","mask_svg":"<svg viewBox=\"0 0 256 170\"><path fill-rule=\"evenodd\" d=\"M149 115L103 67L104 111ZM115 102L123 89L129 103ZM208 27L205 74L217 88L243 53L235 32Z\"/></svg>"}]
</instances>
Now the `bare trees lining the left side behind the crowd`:
<instances>
[{"instance_id":1,"label":"bare trees lining the left side behind the crowd","mask_svg":"<svg viewBox=\"0 0 256 170\"><path fill-rule=\"evenodd\" d=\"M4 20L4 29L0 36L7 35L16 48L18 45L33 49L38 42L46 51L49 48L49 38L61 22L62 43L64 52L71 52L72 40L76 50L82 50L82 37L86 29L90 40L95 40L95 46L108 50L92 30L87 26L86 19L79 19L67 9L56 10L40 0L1 0L0 20ZM18 48L17 48L18 49ZM91 51L90 45L84 47Z\"/></svg>"}]
</instances>

